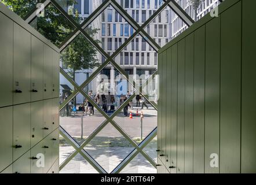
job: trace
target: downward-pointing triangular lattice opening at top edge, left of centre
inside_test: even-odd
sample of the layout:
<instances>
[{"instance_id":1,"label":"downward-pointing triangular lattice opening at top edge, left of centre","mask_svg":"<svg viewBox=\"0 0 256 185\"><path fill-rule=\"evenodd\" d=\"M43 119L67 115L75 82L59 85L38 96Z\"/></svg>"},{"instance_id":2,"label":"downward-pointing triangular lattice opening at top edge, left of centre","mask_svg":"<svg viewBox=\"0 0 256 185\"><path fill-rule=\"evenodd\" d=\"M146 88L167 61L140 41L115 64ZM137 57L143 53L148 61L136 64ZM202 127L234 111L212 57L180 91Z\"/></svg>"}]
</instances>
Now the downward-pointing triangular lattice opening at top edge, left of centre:
<instances>
[{"instance_id":1,"label":"downward-pointing triangular lattice opening at top edge, left of centre","mask_svg":"<svg viewBox=\"0 0 256 185\"><path fill-rule=\"evenodd\" d=\"M55 0L78 24L101 5L102 0Z\"/></svg>"}]
</instances>

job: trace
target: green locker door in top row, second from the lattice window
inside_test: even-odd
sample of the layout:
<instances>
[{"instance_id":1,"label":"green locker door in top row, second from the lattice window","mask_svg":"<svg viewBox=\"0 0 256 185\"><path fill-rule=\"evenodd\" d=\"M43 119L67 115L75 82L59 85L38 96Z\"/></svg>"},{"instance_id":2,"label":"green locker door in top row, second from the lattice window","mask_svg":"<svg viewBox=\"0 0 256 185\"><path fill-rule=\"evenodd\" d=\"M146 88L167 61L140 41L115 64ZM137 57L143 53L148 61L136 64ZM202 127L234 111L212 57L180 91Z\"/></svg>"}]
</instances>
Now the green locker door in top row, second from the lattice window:
<instances>
[{"instance_id":1,"label":"green locker door in top row, second from the lattice window","mask_svg":"<svg viewBox=\"0 0 256 185\"><path fill-rule=\"evenodd\" d=\"M44 45L43 57L43 99L52 98L52 49Z\"/></svg>"}]
</instances>

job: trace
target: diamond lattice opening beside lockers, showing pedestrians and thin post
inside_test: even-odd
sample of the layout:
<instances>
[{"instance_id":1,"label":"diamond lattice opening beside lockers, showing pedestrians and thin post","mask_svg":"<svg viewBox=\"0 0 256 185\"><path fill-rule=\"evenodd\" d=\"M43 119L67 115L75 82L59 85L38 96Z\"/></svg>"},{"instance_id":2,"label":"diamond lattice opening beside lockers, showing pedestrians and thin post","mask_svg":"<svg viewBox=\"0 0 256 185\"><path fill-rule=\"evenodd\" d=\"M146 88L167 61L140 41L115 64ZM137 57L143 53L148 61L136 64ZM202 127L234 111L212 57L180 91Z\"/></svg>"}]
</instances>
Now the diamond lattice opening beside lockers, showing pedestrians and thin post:
<instances>
[{"instance_id":1,"label":"diamond lattice opening beside lockers, showing pedestrians and thin post","mask_svg":"<svg viewBox=\"0 0 256 185\"><path fill-rule=\"evenodd\" d=\"M79 93L60 111L61 127L79 144L105 121L105 117L86 100Z\"/></svg>"}]
</instances>

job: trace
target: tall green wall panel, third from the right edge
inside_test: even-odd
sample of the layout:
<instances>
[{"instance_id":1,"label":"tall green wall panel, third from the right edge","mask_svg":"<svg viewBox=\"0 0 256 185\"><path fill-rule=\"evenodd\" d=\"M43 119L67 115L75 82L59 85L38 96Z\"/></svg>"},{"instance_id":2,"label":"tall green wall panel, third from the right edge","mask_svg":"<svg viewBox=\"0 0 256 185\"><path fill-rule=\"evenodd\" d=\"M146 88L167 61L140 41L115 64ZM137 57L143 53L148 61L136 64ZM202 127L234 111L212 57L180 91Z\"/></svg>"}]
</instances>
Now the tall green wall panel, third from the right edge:
<instances>
[{"instance_id":1,"label":"tall green wall panel, third from the right edge","mask_svg":"<svg viewBox=\"0 0 256 185\"><path fill-rule=\"evenodd\" d=\"M206 24L205 173L219 173L210 166L211 154L220 156L220 17Z\"/></svg>"}]
</instances>

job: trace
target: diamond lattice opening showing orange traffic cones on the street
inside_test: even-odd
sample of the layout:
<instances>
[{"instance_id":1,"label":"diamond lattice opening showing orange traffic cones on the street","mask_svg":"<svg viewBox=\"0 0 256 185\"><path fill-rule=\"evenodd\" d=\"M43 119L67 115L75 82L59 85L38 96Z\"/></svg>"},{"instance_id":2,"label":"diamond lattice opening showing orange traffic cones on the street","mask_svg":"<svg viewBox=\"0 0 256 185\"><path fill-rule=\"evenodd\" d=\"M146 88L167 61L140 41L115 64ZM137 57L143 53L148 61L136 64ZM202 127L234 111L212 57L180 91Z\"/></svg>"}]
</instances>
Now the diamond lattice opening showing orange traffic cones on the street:
<instances>
[{"instance_id":1,"label":"diamond lattice opening showing orange traffic cones on the street","mask_svg":"<svg viewBox=\"0 0 256 185\"><path fill-rule=\"evenodd\" d=\"M128 108L128 110L124 108L114 117L114 121L131 139L136 143L140 143L157 127L158 111L141 94L136 95L136 98L131 103L133 108Z\"/></svg>"}]
</instances>

